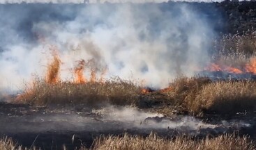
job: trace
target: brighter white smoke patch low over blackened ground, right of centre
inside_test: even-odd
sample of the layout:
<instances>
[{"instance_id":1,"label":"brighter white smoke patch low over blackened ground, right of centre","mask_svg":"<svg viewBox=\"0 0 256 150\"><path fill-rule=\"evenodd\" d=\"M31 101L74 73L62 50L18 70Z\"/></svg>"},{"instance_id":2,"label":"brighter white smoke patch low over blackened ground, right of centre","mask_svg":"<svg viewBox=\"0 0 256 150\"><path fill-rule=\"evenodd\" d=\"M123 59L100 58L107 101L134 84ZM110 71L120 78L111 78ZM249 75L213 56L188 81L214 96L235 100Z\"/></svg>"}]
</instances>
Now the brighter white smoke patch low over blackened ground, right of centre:
<instances>
[{"instance_id":1,"label":"brighter white smoke patch low over blackened ground, right of centre","mask_svg":"<svg viewBox=\"0 0 256 150\"><path fill-rule=\"evenodd\" d=\"M169 118L164 117L160 113L144 112L133 107L108 106L99 110L93 110L93 113L102 116L102 121L123 122L129 124L130 128L169 128L184 132L216 129L217 131L225 132L229 128L239 130L240 128L251 126L251 124L241 120L223 120L218 124L210 124L191 116L173 116L173 118Z\"/></svg>"}]
</instances>

